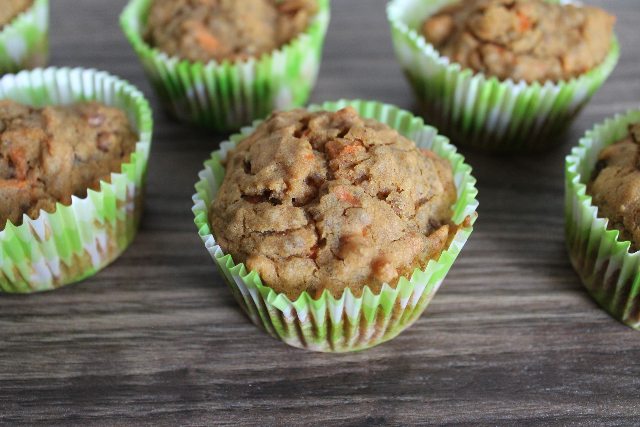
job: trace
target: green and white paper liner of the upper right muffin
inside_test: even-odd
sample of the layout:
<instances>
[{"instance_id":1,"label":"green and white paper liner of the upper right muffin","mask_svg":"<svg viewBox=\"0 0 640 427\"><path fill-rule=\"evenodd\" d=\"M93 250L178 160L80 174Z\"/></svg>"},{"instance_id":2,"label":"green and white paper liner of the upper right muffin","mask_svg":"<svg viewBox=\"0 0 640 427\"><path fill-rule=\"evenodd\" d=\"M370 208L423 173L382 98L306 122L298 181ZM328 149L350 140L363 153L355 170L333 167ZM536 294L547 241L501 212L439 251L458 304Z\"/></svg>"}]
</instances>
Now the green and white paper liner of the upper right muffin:
<instances>
[{"instance_id":1,"label":"green and white paper liner of the upper right muffin","mask_svg":"<svg viewBox=\"0 0 640 427\"><path fill-rule=\"evenodd\" d=\"M428 120L458 145L494 152L539 151L558 138L615 68L620 47L584 75L560 83L500 81L463 69L420 34L424 20L456 0L392 0L387 17L396 56Z\"/></svg>"}]
</instances>

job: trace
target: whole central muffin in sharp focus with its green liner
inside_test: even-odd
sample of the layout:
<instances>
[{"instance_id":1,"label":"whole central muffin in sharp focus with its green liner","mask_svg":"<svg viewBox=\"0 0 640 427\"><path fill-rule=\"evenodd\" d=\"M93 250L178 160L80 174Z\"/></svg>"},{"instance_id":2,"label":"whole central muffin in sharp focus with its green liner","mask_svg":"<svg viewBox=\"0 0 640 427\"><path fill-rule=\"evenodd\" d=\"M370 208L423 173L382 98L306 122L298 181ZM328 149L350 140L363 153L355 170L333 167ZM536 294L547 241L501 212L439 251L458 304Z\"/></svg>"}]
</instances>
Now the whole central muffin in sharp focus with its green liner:
<instances>
[{"instance_id":1,"label":"whole central muffin in sharp focus with its green liner","mask_svg":"<svg viewBox=\"0 0 640 427\"><path fill-rule=\"evenodd\" d=\"M476 218L475 180L446 138L393 106L340 101L232 141L205 163L193 210L256 324L352 351L420 316Z\"/></svg>"}]
</instances>

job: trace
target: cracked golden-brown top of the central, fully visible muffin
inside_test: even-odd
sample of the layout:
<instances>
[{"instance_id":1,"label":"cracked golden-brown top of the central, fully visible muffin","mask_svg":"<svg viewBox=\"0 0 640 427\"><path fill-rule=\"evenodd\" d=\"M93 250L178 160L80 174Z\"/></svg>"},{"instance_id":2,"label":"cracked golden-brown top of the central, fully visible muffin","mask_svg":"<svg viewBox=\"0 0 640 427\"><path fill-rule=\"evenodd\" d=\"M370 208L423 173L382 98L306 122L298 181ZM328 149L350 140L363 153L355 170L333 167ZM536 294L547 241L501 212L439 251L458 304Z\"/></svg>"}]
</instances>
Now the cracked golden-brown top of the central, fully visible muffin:
<instances>
[{"instance_id":1,"label":"cracked golden-brown top of the central, fully visible muffin","mask_svg":"<svg viewBox=\"0 0 640 427\"><path fill-rule=\"evenodd\" d=\"M228 154L218 244L291 300L361 295L437 258L455 234L451 166L354 109L275 113Z\"/></svg>"}]
</instances>

